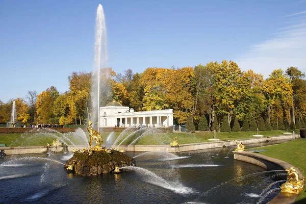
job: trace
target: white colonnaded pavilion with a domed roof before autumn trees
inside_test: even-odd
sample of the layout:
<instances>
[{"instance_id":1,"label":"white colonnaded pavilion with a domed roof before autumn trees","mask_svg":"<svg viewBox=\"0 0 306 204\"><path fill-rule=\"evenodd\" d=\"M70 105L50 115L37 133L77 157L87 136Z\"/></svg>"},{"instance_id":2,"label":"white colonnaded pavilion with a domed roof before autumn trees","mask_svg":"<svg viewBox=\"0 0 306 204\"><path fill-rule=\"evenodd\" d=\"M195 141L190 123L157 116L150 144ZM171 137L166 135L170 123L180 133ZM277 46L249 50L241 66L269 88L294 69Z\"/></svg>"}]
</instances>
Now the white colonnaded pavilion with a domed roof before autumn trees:
<instances>
[{"instance_id":1,"label":"white colonnaded pavilion with a domed roof before autumn trees","mask_svg":"<svg viewBox=\"0 0 306 204\"><path fill-rule=\"evenodd\" d=\"M122 106L116 101L100 107L99 117L100 127L173 126L172 109L134 112L133 108Z\"/></svg>"}]
</instances>

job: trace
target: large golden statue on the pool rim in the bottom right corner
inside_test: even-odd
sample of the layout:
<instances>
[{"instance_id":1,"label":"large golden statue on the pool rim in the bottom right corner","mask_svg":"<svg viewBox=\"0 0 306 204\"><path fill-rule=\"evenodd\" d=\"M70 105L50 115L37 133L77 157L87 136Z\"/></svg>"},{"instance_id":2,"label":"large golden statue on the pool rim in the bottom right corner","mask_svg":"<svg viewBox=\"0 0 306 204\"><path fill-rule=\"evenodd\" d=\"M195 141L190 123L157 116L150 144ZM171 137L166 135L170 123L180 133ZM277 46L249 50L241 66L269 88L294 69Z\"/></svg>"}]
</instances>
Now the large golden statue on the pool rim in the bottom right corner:
<instances>
[{"instance_id":1,"label":"large golden statue on the pool rim in the bottom right corner","mask_svg":"<svg viewBox=\"0 0 306 204\"><path fill-rule=\"evenodd\" d=\"M282 184L282 192L298 194L299 191L303 190L304 179L300 179L298 172L293 166L287 171L287 182Z\"/></svg>"}]
</instances>

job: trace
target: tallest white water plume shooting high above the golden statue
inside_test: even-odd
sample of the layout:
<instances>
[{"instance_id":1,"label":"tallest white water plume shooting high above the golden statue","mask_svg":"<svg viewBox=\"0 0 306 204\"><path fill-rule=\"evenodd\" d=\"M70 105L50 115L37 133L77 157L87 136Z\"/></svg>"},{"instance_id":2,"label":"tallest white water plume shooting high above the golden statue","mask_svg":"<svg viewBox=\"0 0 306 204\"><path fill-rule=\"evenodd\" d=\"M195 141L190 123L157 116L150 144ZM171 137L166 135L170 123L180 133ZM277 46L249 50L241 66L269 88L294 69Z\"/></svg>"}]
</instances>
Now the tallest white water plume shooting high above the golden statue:
<instances>
[{"instance_id":1,"label":"tallest white water plume shooting high above the golden statue","mask_svg":"<svg viewBox=\"0 0 306 204\"><path fill-rule=\"evenodd\" d=\"M92 115L91 120L93 126L97 121L99 126L99 107L101 106L101 97L108 98L110 95L110 88L107 86L107 79L109 77L108 53L107 53L107 33L103 7L99 4L96 14L95 22L95 42L94 42L94 65L92 71ZM103 92L103 94L101 94Z\"/></svg>"}]
</instances>

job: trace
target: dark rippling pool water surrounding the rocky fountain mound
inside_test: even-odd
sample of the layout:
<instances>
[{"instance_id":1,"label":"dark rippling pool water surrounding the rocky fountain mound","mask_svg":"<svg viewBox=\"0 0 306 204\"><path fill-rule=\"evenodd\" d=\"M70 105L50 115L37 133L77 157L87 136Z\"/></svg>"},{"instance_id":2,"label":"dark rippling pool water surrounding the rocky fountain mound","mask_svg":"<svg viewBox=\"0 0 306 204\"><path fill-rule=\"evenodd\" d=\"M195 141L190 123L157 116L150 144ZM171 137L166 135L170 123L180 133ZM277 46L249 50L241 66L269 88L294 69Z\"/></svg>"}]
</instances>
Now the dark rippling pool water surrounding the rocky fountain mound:
<instances>
[{"instance_id":1,"label":"dark rippling pool water surrounding the rocky fountain mound","mask_svg":"<svg viewBox=\"0 0 306 204\"><path fill-rule=\"evenodd\" d=\"M276 189L281 184L276 181L286 178L286 173L234 160L228 150L178 152L175 157L126 152L139 155L137 168L90 177L67 174L58 163L71 153L7 156L0 164L0 203L257 203L265 189ZM278 193L271 192L263 203Z\"/></svg>"}]
</instances>

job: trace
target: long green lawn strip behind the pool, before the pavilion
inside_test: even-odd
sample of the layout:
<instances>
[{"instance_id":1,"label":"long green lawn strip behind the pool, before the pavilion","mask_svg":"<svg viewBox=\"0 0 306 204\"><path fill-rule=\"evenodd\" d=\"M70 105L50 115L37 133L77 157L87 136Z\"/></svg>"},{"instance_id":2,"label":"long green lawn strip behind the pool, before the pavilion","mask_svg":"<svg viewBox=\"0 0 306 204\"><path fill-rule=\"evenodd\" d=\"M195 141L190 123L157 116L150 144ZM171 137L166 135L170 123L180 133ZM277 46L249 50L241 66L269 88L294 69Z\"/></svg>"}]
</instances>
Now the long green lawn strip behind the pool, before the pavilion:
<instances>
[{"instance_id":1,"label":"long green lawn strip behind the pool, before the pavilion","mask_svg":"<svg viewBox=\"0 0 306 204\"><path fill-rule=\"evenodd\" d=\"M260 135L264 135L267 137L283 135L284 131L260 131ZM85 131L87 138L88 132ZM109 136L110 132L103 132L101 135L103 136L104 143L106 143L106 138ZM115 133L115 138L119 136L120 133ZM131 132L126 132L124 137L122 137L119 142L121 142L125 136L130 135ZM216 137L221 140L238 140L238 139L246 139L252 138L252 135L257 134L257 132L231 132L231 133L216 133ZM77 137L73 137L71 135L66 135L74 144L82 144L82 140ZM131 144L141 133L131 135L128 139L126 139L123 144ZM151 132L145 133L137 142L134 144L139 145L159 145L159 144L169 144L172 142L174 137L177 137L177 141L179 144L189 144L189 143L198 143L198 142L209 142L209 138L213 138L213 133L211 132L196 132L196 133L159 133ZM60 136L58 134L58 136ZM56 140L54 134L0 134L0 143L5 143L7 146L45 146L47 143L51 144L53 140ZM118 143L119 143L118 142ZM69 144L68 144L69 145Z\"/></svg>"}]
</instances>

